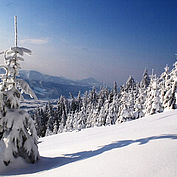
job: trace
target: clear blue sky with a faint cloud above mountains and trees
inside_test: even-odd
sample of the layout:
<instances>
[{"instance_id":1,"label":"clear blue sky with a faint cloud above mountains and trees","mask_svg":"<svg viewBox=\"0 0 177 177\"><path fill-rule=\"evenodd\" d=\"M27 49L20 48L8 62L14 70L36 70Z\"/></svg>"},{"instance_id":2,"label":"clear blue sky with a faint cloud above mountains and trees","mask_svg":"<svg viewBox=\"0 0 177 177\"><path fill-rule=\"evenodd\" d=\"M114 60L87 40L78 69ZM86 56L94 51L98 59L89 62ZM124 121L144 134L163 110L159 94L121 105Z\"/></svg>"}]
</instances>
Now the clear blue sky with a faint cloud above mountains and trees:
<instances>
[{"instance_id":1,"label":"clear blue sky with a faint cloud above mountains and trees","mask_svg":"<svg viewBox=\"0 0 177 177\"><path fill-rule=\"evenodd\" d=\"M0 50L14 43L14 15L19 45L33 51L24 69L122 84L175 62L177 1L1 0Z\"/></svg>"}]
</instances>

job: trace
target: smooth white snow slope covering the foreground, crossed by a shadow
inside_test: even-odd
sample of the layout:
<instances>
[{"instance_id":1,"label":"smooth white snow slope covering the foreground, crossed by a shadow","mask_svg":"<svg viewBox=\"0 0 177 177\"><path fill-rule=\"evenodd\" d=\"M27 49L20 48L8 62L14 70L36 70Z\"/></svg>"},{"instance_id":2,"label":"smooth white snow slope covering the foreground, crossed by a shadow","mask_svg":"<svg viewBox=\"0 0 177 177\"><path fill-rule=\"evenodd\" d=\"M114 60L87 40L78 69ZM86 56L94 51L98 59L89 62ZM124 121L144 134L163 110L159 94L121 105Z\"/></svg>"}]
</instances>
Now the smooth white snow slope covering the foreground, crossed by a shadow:
<instances>
[{"instance_id":1,"label":"smooth white snow slope covering the foreground, crossed by a shadow","mask_svg":"<svg viewBox=\"0 0 177 177\"><path fill-rule=\"evenodd\" d=\"M0 176L177 177L177 110L39 141L38 163L1 163Z\"/></svg>"}]
</instances>

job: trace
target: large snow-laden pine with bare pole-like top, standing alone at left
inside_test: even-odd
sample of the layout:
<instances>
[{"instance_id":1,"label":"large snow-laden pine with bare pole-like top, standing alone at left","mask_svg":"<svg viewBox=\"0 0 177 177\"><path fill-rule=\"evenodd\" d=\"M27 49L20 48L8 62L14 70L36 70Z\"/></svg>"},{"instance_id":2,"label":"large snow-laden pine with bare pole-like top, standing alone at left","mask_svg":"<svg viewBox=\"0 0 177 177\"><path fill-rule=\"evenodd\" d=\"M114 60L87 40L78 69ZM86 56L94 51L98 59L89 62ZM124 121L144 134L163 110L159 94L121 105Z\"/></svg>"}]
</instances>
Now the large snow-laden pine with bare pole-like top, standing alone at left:
<instances>
[{"instance_id":1,"label":"large snow-laden pine with bare pole-like top, standing alone at left","mask_svg":"<svg viewBox=\"0 0 177 177\"><path fill-rule=\"evenodd\" d=\"M34 163L39 159L36 129L30 115L20 109L23 92L35 97L28 84L17 79L19 61L24 61L24 54L31 54L29 49L17 46L17 28L15 17L15 47L3 52L5 73L0 75L0 141L3 142L3 162L7 166L14 158L22 157ZM20 93L21 91L21 93ZM2 147L1 147L2 148Z\"/></svg>"}]
</instances>

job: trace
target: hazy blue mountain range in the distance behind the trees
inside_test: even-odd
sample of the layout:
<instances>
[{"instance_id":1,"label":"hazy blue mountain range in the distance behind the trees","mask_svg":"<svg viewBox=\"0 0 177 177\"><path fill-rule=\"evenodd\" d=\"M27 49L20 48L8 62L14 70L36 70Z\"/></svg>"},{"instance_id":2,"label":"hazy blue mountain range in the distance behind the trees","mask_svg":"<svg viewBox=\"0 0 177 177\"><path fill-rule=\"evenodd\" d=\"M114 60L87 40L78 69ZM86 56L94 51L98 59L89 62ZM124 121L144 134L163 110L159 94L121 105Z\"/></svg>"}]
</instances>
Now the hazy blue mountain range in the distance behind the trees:
<instances>
[{"instance_id":1,"label":"hazy blue mountain range in the distance behind the trees","mask_svg":"<svg viewBox=\"0 0 177 177\"><path fill-rule=\"evenodd\" d=\"M101 85L94 78L73 81L33 70L21 70L19 77L28 82L39 99L57 99L60 95L69 97L70 92L77 96L79 91L83 94L85 91L92 89L93 86L99 88Z\"/></svg>"}]
</instances>

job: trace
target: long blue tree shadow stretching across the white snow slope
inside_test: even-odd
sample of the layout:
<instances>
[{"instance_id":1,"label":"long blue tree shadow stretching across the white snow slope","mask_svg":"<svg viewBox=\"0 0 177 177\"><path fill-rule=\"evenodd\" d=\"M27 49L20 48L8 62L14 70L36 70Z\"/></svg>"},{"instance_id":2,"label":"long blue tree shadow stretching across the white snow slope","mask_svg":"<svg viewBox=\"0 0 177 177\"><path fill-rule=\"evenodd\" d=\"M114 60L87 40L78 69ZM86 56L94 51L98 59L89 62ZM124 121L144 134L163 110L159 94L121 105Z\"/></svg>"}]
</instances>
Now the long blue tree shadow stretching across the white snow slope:
<instances>
[{"instance_id":1,"label":"long blue tree shadow stretching across the white snow slope","mask_svg":"<svg viewBox=\"0 0 177 177\"><path fill-rule=\"evenodd\" d=\"M159 140L159 139L172 139L176 140L176 134L169 135L161 135L161 136L152 136L147 138L141 138L137 140L121 140L116 141L108 145L104 145L99 147L97 150L90 151L82 151L73 154L64 154L64 157L41 157L40 160L35 164L30 164L27 168L16 169L13 171L8 171L4 173L0 173L0 175L20 175L20 174L32 174L45 170L50 170L54 168L61 167L63 165L67 165L69 163L73 163L79 160L88 159L90 157L94 157L100 155L104 152L110 151L112 149L122 148L133 143L138 143L138 145L143 145L148 143L149 141Z\"/></svg>"}]
</instances>

